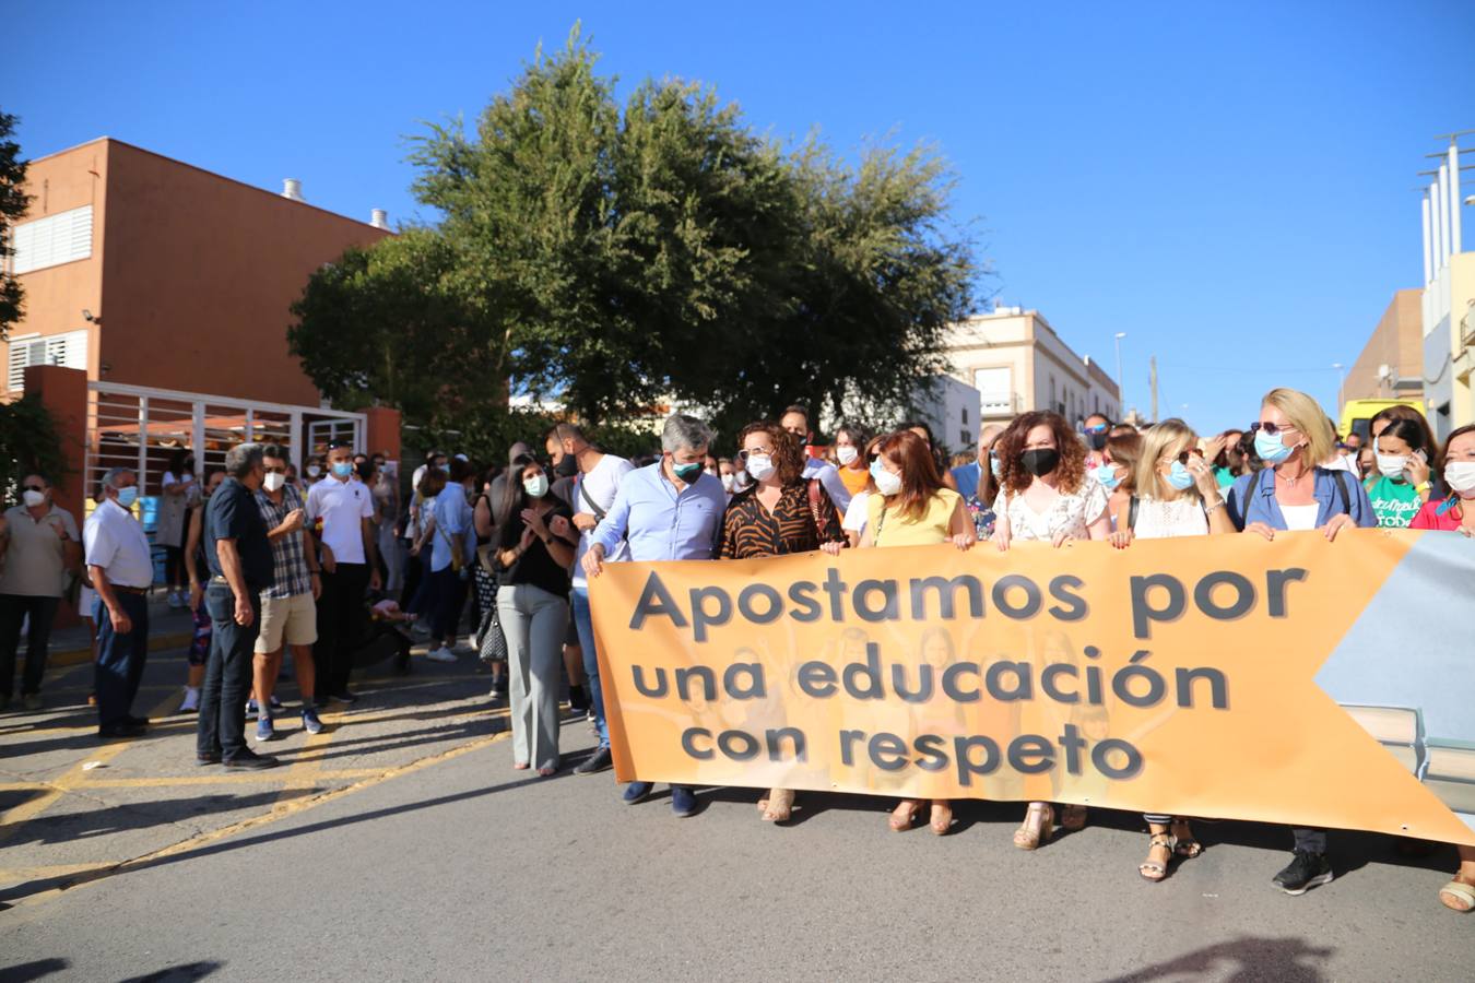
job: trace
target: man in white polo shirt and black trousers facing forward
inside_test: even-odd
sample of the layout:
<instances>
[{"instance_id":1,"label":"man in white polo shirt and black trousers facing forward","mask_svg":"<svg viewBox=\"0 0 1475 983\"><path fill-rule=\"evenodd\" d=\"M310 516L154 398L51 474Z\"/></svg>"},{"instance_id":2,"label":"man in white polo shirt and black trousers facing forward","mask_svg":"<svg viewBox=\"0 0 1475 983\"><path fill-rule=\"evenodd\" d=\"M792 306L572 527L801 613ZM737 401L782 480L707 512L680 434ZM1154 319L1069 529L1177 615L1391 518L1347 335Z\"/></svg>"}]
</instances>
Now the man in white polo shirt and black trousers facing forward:
<instances>
[{"instance_id":1,"label":"man in white polo shirt and black trousers facing forward","mask_svg":"<svg viewBox=\"0 0 1475 983\"><path fill-rule=\"evenodd\" d=\"M354 643L364 619L364 594L379 590L379 556L373 528L373 492L354 475L354 449L333 444L327 449L327 476L307 492L307 520L322 553L323 592L317 598L319 704L353 703L348 675Z\"/></svg>"}]
</instances>

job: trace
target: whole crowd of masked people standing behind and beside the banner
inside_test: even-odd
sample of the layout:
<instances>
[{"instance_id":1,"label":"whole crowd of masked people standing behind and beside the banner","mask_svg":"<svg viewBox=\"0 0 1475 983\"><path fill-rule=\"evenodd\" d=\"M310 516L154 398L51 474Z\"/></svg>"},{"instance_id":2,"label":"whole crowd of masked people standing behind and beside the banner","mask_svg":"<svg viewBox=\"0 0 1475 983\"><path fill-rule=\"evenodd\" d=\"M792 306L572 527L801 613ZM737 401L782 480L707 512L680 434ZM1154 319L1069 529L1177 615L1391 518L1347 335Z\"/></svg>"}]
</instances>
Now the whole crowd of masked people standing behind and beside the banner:
<instances>
[{"instance_id":1,"label":"whole crowd of masked people standing behind and beside the banner","mask_svg":"<svg viewBox=\"0 0 1475 983\"><path fill-rule=\"evenodd\" d=\"M543 435L541 454L513 444L504 467L479 470L432 451L404 495L392 463L351 447L307 461L301 477L276 445L232 448L224 467L201 476L180 454L164 482L159 541L170 603L195 613L180 709L199 713L199 763L276 763L246 744L245 719L255 712L258 749L276 737L282 704L273 688L286 648L307 732L322 728L319 706L353 703L354 646L363 619L378 615L412 620L437 662L468 654L459 641L469 634L491 665L493 697L509 704L518 769L562 768L566 685L571 707L597 734L574 772L603 771L609 728L589 585L608 563L929 544L1007 551L1027 541L1128 550L1139 538L1274 539L1286 531L1320 531L1335 542L1358 526L1475 535L1475 427L1440 445L1416 410L1394 407L1372 420L1363 447L1360 435L1339 441L1316 401L1291 389L1267 393L1248 429L1208 438L1181 420L1139 429L1099 414L1071 424L1031 411L987 427L976 451L951 461L923 421L882 433L845 424L827 447L814 439L798 405L745 426L730 457L690 416L671 416L659 454L643 460L605 452L563 423ZM9 554L0 573L0 696L9 703L28 619L22 696L40 706L59 585L84 563L96 591L99 735L140 734L148 721L131 706L155 576L133 513L137 475L119 467L103 476L81 536L50 503L43 476L28 476L22 494L0 526ZM621 797L634 805L650 793L650 783L633 781ZM673 787L671 808L693 815L693 790ZM789 788L758 800L771 822L794 808ZM912 828L923 814L934 833L951 830L945 800L903 800L889 827ZM1161 881L1202 852L1189 816L1143 819L1140 877ZM1031 802L1013 842L1040 849L1056 825L1087 821L1081 806ZM1294 830L1292 858L1274 884L1299 895L1332 877L1326 831ZM1459 911L1475 906L1475 850L1460 847L1460 870L1440 898Z\"/></svg>"}]
</instances>

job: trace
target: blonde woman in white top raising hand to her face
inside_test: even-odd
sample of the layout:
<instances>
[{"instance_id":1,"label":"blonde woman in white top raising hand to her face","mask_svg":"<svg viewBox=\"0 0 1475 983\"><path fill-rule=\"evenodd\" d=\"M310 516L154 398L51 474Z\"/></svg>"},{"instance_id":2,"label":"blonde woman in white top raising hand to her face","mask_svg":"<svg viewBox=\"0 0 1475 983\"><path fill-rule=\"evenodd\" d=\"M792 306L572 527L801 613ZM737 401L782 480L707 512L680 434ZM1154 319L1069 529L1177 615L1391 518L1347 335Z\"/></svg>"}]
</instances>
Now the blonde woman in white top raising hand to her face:
<instances>
[{"instance_id":1,"label":"blonde woman in white top raising hand to her face","mask_svg":"<svg viewBox=\"0 0 1475 983\"><path fill-rule=\"evenodd\" d=\"M1218 479L1198 449L1199 439L1183 420L1164 420L1148 430L1137 461L1137 492L1111 534L1111 544L1125 550L1133 539L1170 539L1236 532ZM1145 814L1148 859L1137 865L1143 880L1161 881L1174 856L1192 859L1204 852L1186 816Z\"/></svg>"}]
</instances>

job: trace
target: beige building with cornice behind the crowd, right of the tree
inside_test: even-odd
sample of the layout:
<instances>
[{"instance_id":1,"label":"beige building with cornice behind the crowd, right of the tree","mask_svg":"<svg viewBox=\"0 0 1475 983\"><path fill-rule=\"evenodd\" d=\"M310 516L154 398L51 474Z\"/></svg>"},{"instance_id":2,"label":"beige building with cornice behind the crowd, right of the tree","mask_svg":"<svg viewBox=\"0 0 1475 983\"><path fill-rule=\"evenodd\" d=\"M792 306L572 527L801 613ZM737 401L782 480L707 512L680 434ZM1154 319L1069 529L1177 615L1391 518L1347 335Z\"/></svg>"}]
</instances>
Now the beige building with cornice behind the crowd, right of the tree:
<instances>
[{"instance_id":1,"label":"beige building with cornice behind the crowd, right of the tree","mask_svg":"<svg viewBox=\"0 0 1475 983\"><path fill-rule=\"evenodd\" d=\"M981 423L1006 423L1025 410L1055 410L1071 423L1092 413L1121 419L1111 373L1081 357L1038 311L996 308L947 335L950 373L981 396Z\"/></svg>"}]
</instances>

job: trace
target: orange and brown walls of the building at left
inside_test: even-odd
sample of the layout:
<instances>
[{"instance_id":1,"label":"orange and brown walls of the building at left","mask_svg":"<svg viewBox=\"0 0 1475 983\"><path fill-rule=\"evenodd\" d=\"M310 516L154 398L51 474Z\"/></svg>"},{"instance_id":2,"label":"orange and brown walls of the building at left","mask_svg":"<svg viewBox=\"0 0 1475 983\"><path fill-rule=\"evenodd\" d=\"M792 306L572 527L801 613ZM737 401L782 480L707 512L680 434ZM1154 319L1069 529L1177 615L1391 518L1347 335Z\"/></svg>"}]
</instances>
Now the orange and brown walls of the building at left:
<instances>
[{"instance_id":1,"label":"orange and brown walls of the building at left","mask_svg":"<svg viewBox=\"0 0 1475 983\"><path fill-rule=\"evenodd\" d=\"M109 139L34 161L28 186L22 221L90 202L93 251L21 274L12 336L88 327L93 311L91 380L316 407L289 307L322 264L389 234Z\"/></svg>"}]
</instances>

